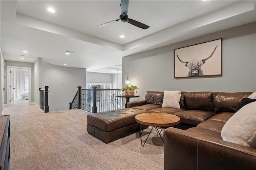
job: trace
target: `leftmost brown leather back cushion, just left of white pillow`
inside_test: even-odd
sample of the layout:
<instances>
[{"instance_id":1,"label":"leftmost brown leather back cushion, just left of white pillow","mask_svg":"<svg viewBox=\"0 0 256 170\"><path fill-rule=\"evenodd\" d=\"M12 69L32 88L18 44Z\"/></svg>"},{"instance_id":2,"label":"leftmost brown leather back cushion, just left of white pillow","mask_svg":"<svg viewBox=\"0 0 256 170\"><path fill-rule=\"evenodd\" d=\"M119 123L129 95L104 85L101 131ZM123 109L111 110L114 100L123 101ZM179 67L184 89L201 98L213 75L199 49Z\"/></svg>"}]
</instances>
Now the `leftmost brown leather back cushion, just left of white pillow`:
<instances>
[{"instance_id":1,"label":"leftmost brown leather back cushion, just left of white pillow","mask_svg":"<svg viewBox=\"0 0 256 170\"><path fill-rule=\"evenodd\" d=\"M145 100L147 104L162 105L164 99L164 92L160 91L147 91Z\"/></svg>"}]
</instances>

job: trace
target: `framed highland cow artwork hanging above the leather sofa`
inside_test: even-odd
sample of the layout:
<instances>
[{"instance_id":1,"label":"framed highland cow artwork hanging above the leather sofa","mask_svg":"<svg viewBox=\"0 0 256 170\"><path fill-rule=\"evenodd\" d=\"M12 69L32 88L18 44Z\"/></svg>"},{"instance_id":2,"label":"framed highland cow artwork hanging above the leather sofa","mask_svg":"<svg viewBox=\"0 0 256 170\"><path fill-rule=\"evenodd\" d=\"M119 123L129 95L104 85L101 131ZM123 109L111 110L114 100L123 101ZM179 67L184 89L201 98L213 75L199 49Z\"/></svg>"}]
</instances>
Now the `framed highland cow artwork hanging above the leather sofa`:
<instances>
[{"instance_id":1,"label":"framed highland cow artwork hanging above the leather sofa","mask_svg":"<svg viewBox=\"0 0 256 170\"><path fill-rule=\"evenodd\" d=\"M222 75L222 39L174 49L174 77Z\"/></svg>"}]
</instances>

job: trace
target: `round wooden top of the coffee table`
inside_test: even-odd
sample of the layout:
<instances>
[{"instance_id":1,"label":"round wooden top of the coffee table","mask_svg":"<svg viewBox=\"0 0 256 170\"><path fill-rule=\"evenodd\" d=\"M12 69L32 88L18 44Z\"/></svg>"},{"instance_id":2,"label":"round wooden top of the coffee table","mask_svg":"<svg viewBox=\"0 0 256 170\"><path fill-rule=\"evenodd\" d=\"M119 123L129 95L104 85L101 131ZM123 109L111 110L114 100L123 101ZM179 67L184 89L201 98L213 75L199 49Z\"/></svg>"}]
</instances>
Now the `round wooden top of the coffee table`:
<instances>
[{"instance_id":1,"label":"round wooden top of the coffee table","mask_svg":"<svg viewBox=\"0 0 256 170\"><path fill-rule=\"evenodd\" d=\"M170 127L180 123L180 117L167 113L141 113L135 116L135 120L154 127Z\"/></svg>"}]
</instances>

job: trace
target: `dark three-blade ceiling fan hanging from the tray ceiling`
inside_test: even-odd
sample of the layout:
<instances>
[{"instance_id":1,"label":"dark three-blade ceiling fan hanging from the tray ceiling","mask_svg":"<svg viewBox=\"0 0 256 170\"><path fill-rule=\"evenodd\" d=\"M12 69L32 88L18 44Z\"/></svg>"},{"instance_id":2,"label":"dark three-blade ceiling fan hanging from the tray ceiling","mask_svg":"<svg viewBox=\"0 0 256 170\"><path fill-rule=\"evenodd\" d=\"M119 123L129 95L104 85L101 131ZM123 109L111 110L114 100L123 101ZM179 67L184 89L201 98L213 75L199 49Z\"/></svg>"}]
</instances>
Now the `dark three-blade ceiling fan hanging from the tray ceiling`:
<instances>
[{"instance_id":1,"label":"dark three-blade ceiling fan hanging from the tray ceiling","mask_svg":"<svg viewBox=\"0 0 256 170\"><path fill-rule=\"evenodd\" d=\"M142 24L141 22L138 22L138 21L135 21L135 20L132 20L130 18L128 18L128 5L129 5L129 0L121 0L121 15L119 16L119 19L116 19L116 20L113 20L113 21L110 21L110 22L106 22L104 24L100 24L98 25L98 27L101 27L101 26L105 26L105 25L108 25L108 24L111 24L111 23L114 23L114 22L118 22L119 20L121 22L128 22L129 24L132 24L134 26L137 26L139 28L142 28L144 30L148 29L149 26L145 25L145 24Z\"/></svg>"}]
</instances>

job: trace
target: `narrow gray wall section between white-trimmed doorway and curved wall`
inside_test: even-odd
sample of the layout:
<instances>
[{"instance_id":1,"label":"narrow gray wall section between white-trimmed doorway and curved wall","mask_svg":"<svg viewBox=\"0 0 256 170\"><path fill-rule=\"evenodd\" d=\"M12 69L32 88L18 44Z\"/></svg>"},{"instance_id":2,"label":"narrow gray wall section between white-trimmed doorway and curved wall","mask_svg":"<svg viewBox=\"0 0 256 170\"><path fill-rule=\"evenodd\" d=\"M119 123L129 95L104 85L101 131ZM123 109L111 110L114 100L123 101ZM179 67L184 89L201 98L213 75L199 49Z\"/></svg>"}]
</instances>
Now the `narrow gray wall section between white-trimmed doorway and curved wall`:
<instances>
[{"instance_id":1,"label":"narrow gray wall section between white-trimmed doorway and curved wall","mask_svg":"<svg viewBox=\"0 0 256 170\"><path fill-rule=\"evenodd\" d=\"M41 87L42 58L34 62L34 103L39 105L39 88ZM41 87L43 88L43 87Z\"/></svg>"}]
</instances>

